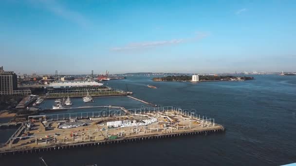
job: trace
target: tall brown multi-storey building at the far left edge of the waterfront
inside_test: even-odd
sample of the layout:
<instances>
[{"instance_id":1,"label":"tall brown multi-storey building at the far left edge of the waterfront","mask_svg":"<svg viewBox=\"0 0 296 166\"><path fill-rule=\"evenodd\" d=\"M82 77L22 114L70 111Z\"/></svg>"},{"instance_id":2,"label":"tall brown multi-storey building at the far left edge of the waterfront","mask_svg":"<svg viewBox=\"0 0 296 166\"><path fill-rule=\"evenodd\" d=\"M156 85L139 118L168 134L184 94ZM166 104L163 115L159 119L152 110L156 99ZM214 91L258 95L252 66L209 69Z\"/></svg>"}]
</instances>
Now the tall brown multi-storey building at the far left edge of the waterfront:
<instances>
[{"instance_id":1,"label":"tall brown multi-storey building at the far left edge of the waterfront","mask_svg":"<svg viewBox=\"0 0 296 166\"><path fill-rule=\"evenodd\" d=\"M0 67L0 95L31 95L31 90L18 90L18 76Z\"/></svg>"}]
</instances>

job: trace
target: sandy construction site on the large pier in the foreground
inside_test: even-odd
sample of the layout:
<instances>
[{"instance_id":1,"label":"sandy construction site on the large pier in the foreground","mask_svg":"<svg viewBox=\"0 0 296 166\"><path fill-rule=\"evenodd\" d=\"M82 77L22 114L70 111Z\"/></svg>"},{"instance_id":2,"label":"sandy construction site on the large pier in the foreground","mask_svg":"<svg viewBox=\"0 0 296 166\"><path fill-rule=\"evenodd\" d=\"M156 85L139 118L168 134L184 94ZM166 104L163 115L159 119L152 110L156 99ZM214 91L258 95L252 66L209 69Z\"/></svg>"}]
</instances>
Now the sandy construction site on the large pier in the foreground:
<instances>
[{"instance_id":1,"label":"sandy construction site on the large pier in the foreground","mask_svg":"<svg viewBox=\"0 0 296 166\"><path fill-rule=\"evenodd\" d=\"M223 132L215 119L174 107L29 116L1 154L63 149L184 134Z\"/></svg>"}]
</instances>

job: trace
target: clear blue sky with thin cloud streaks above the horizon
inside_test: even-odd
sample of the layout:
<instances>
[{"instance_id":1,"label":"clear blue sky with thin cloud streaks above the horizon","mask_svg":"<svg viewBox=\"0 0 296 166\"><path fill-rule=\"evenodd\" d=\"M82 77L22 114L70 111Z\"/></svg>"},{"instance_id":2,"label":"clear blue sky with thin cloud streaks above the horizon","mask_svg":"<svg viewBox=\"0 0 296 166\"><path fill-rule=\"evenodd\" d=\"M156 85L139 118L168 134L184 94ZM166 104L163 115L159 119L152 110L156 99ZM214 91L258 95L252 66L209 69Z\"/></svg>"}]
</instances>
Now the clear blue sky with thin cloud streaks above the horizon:
<instances>
[{"instance_id":1,"label":"clear blue sky with thin cloud streaks above the horizon","mask_svg":"<svg viewBox=\"0 0 296 166\"><path fill-rule=\"evenodd\" d=\"M0 0L20 73L296 71L296 0Z\"/></svg>"}]
</instances>

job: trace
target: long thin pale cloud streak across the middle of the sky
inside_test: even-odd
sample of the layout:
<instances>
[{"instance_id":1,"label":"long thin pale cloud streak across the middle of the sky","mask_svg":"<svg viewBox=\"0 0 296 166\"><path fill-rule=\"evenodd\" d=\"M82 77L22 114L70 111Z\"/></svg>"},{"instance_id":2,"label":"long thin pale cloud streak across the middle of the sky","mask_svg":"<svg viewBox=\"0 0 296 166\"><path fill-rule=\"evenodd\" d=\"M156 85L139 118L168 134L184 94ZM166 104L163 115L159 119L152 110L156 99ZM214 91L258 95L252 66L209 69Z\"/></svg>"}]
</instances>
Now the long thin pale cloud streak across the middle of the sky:
<instances>
[{"instance_id":1,"label":"long thin pale cloud streak across the middle of the sky","mask_svg":"<svg viewBox=\"0 0 296 166\"><path fill-rule=\"evenodd\" d=\"M161 47L161 46L170 46L170 45L176 45L176 44L199 40L206 37L207 35L208 35L207 33L198 32L196 33L196 36L191 38L129 43L122 47L113 47L110 50L112 51L141 50L141 49L155 48L155 47Z\"/></svg>"}]
</instances>

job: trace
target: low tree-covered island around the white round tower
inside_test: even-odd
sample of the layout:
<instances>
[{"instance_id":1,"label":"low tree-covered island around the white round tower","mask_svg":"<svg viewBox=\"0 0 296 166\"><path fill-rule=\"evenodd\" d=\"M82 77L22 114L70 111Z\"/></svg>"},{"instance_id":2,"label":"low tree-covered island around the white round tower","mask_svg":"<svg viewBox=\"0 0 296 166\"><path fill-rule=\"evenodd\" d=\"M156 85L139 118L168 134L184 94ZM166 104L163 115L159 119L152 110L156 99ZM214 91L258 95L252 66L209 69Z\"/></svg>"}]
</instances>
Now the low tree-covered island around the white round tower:
<instances>
[{"instance_id":1,"label":"low tree-covered island around the white round tower","mask_svg":"<svg viewBox=\"0 0 296 166\"><path fill-rule=\"evenodd\" d=\"M188 82L188 81L192 80L192 76L181 75L181 76L154 77L152 80L153 81ZM211 76L211 75L199 76L199 82L207 82L207 81L245 81L245 80L254 80L254 77Z\"/></svg>"}]
</instances>

